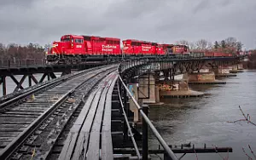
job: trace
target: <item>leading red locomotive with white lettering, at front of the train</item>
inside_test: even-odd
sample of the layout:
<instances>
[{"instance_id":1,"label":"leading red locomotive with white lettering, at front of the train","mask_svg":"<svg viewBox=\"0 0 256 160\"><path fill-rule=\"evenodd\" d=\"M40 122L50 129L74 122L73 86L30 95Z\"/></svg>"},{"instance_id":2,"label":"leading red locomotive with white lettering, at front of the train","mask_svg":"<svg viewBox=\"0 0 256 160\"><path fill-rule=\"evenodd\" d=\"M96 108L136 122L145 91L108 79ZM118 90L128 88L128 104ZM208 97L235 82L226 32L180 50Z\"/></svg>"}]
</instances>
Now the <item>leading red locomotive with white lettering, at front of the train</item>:
<instances>
[{"instance_id":1,"label":"leading red locomotive with white lettering, at front of the train","mask_svg":"<svg viewBox=\"0 0 256 160\"><path fill-rule=\"evenodd\" d=\"M113 37L65 35L54 42L47 54L48 61L79 61L90 55L121 55L120 39Z\"/></svg>"}]
</instances>

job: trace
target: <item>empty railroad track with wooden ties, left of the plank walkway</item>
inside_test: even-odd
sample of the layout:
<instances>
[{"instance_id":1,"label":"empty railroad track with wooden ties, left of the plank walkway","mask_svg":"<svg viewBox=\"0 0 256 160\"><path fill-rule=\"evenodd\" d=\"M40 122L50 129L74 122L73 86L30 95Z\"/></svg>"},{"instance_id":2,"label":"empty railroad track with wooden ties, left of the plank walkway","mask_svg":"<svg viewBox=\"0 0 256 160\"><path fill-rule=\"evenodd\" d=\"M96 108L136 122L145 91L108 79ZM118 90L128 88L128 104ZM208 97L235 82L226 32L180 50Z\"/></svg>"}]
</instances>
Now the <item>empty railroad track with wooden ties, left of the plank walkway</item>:
<instances>
[{"instance_id":1,"label":"empty railroad track with wooden ties, left of the plank walkway","mask_svg":"<svg viewBox=\"0 0 256 160\"><path fill-rule=\"evenodd\" d=\"M0 159L48 158L62 129L70 123L71 117L83 111L80 109L87 95L96 92L102 78L106 79L115 70L116 66L105 66L84 71L35 95L33 100L23 102L23 99L21 104L9 105L0 115ZM107 84L105 81L99 86Z\"/></svg>"}]
</instances>

